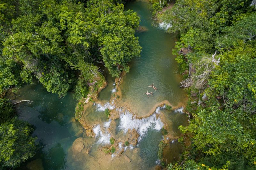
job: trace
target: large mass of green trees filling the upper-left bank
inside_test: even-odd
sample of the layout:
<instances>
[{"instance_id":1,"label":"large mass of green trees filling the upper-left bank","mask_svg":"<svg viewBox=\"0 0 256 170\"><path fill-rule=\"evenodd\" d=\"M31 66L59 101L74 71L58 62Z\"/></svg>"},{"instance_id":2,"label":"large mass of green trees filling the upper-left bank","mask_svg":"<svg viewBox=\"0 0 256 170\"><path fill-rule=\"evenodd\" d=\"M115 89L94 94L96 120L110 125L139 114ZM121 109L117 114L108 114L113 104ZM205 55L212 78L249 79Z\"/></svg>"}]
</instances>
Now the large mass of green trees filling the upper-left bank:
<instances>
[{"instance_id":1,"label":"large mass of green trees filling the upper-left bank","mask_svg":"<svg viewBox=\"0 0 256 170\"><path fill-rule=\"evenodd\" d=\"M140 56L139 17L120 2L2 1L0 93L35 76L49 92L61 97L75 89L80 99L101 76L98 63L113 77L128 72L127 63Z\"/></svg>"}]
</instances>

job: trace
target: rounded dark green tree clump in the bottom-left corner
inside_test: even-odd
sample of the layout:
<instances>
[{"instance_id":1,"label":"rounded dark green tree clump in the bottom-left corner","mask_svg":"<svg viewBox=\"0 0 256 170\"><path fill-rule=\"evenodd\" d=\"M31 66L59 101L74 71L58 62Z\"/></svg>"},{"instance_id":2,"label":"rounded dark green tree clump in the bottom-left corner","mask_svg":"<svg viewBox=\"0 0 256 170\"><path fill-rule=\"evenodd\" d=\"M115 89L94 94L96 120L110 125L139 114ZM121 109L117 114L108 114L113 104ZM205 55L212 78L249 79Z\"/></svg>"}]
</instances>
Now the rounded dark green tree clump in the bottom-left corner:
<instances>
[{"instance_id":1,"label":"rounded dark green tree clump in the bottom-left corner","mask_svg":"<svg viewBox=\"0 0 256 170\"><path fill-rule=\"evenodd\" d=\"M13 118L0 125L0 168L17 167L35 155L33 128L26 122Z\"/></svg>"}]
</instances>

